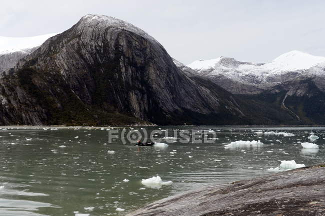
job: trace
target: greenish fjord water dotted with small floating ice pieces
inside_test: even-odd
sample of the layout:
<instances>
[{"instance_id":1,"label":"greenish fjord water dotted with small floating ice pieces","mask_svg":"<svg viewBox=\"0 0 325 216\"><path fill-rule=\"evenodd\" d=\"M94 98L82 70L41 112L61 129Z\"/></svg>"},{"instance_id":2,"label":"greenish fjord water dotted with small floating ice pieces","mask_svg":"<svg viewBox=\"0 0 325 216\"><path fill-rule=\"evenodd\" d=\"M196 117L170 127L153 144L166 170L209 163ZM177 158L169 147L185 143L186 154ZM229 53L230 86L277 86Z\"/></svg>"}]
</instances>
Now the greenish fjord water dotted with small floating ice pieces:
<instances>
[{"instance_id":1,"label":"greenish fjord water dotted with small floating ice pieces","mask_svg":"<svg viewBox=\"0 0 325 216\"><path fill-rule=\"evenodd\" d=\"M157 128L145 129L150 132ZM95 128L2 128L0 215L74 216L75 212L89 216L125 215L187 190L271 174L267 169L277 167L281 160L295 160L308 166L324 162L325 158L323 127L162 129L168 129L168 137L173 136L173 130L182 129L220 129L220 132L216 132L217 139L210 144L183 144L175 140L167 148L157 148L123 145L120 139L109 144L108 131ZM257 130L283 131L295 136L257 136ZM319 149L302 149L297 143L310 142L307 139L310 132L319 137L314 141ZM224 145L237 140L260 140L264 144L224 149ZM141 179L156 175L173 183L155 189L141 185ZM129 181L123 182L124 179ZM117 208L125 211L116 211Z\"/></svg>"}]
</instances>

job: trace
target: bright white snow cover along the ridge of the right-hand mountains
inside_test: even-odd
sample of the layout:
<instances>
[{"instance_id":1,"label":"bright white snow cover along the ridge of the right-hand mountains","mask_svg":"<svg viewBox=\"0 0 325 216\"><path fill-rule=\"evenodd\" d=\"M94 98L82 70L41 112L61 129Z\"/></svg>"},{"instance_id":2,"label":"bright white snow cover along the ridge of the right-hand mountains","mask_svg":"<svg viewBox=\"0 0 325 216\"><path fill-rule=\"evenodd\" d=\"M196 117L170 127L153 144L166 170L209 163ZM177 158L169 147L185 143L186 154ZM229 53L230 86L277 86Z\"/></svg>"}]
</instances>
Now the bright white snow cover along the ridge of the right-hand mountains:
<instances>
[{"instance_id":1,"label":"bright white snow cover along the ridge of the right-hand mountains","mask_svg":"<svg viewBox=\"0 0 325 216\"><path fill-rule=\"evenodd\" d=\"M268 63L256 64L240 62L234 58L219 57L210 60L196 60L187 66L202 75L223 76L242 83L259 84L276 82L274 77L289 72L301 74L313 66L325 64L324 62L325 57L293 50ZM313 72L319 73L319 69L315 67Z\"/></svg>"}]
</instances>

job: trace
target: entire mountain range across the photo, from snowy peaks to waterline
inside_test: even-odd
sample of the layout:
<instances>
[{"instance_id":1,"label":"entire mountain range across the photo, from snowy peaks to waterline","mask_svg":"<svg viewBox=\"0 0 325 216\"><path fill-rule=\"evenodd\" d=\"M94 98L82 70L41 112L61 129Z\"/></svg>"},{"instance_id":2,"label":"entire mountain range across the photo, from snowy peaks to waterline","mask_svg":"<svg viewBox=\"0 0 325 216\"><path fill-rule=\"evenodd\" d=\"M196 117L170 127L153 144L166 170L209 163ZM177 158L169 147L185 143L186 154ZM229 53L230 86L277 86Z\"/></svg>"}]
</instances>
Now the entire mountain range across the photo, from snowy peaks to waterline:
<instances>
[{"instance_id":1,"label":"entire mountain range across the photo, from snowy peaks to waterline","mask_svg":"<svg viewBox=\"0 0 325 216\"><path fill-rule=\"evenodd\" d=\"M59 34L0 37L0 124L324 124L325 58L185 66L136 26L83 16Z\"/></svg>"}]
</instances>

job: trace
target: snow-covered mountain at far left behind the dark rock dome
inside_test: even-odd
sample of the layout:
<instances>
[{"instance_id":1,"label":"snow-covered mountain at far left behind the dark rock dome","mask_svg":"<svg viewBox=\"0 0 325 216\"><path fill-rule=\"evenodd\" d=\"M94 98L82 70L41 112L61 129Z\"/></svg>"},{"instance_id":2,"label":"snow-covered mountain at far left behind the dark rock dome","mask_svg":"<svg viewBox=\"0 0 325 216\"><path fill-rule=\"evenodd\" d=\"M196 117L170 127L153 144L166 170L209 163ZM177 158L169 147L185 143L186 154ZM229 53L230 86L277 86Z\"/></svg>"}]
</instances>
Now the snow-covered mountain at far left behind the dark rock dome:
<instances>
[{"instance_id":1,"label":"snow-covered mountain at far left behind the dark rock dome","mask_svg":"<svg viewBox=\"0 0 325 216\"><path fill-rule=\"evenodd\" d=\"M33 37L0 36L0 72L13 67L17 61L39 47L49 37L57 33Z\"/></svg>"}]
</instances>

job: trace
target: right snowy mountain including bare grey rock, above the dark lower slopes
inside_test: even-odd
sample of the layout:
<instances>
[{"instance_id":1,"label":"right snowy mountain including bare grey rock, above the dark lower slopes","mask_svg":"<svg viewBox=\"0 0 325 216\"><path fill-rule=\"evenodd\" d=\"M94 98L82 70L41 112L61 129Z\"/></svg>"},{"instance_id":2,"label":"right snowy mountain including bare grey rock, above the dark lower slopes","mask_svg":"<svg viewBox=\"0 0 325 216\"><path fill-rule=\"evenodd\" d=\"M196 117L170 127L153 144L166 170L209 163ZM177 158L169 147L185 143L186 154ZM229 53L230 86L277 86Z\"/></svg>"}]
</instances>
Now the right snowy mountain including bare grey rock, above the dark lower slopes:
<instances>
[{"instance_id":1,"label":"right snowy mountain including bare grey rock, above the dark lower slopes","mask_svg":"<svg viewBox=\"0 0 325 216\"><path fill-rule=\"evenodd\" d=\"M219 57L197 60L187 66L203 76L210 77L232 93L254 94L307 74L309 68L322 62L325 62L325 57L294 50L278 56L269 63L241 62L234 58Z\"/></svg>"}]
</instances>

